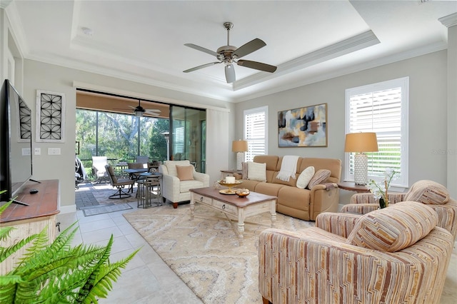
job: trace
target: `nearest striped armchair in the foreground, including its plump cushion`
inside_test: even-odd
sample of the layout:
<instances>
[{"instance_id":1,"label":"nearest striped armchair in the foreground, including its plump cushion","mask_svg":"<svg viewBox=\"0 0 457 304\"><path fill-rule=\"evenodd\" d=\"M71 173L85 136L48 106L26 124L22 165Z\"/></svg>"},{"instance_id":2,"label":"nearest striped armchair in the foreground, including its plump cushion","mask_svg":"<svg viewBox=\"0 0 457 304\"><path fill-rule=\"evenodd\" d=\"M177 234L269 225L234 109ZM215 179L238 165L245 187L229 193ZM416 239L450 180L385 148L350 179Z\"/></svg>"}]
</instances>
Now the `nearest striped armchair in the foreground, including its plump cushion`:
<instances>
[{"instance_id":1,"label":"nearest striped armchair in the foreground, including its plump cushion","mask_svg":"<svg viewBox=\"0 0 457 304\"><path fill-rule=\"evenodd\" d=\"M259 236L263 303L439 303L453 249L438 214L400 202L366 215L321 213L316 227Z\"/></svg>"}]
</instances>

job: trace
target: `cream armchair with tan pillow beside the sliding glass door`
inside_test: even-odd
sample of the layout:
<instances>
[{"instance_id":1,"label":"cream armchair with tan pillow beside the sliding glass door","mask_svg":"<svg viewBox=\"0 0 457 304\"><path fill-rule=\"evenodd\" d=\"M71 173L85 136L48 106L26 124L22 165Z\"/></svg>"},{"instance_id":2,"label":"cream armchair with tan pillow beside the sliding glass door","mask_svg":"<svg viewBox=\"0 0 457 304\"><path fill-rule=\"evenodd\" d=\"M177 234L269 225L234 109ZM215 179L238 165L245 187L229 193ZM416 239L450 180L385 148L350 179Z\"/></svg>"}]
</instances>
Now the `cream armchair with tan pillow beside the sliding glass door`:
<instances>
[{"instance_id":1,"label":"cream armchair with tan pillow beside the sliding glass door","mask_svg":"<svg viewBox=\"0 0 457 304\"><path fill-rule=\"evenodd\" d=\"M159 166L159 173L162 173L162 197L164 201L168 198L173 208L178 208L179 202L190 201L189 189L209 187L209 175L196 172L189 161L165 161Z\"/></svg>"}]
</instances>

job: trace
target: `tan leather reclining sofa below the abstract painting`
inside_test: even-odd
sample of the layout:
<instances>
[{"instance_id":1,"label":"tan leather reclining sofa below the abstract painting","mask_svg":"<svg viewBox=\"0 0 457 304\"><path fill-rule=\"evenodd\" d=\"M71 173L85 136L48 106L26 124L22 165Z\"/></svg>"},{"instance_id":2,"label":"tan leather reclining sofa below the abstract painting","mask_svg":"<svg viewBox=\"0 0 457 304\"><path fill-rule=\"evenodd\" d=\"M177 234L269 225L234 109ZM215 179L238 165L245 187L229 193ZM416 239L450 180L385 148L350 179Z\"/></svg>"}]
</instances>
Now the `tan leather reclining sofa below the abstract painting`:
<instances>
[{"instance_id":1,"label":"tan leather reclining sofa below the abstract painting","mask_svg":"<svg viewBox=\"0 0 457 304\"><path fill-rule=\"evenodd\" d=\"M281 170L282 156L254 156L255 163L266 163L266 182L243 179L238 188L248 188L249 191L278 197L276 211L278 213L300 218L305 221L315 221L316 216L323 212L337 212L339 190L337 183L341 178L341 160L336 158L302 158L297 161L296 178L281 181L276 178ZM296 187L300 173L313 166L317 172L320 169L331 171L330 177L323 183L310 189ZM237 176L241 178L241 176Z\"/></svg>"}]
</instances>

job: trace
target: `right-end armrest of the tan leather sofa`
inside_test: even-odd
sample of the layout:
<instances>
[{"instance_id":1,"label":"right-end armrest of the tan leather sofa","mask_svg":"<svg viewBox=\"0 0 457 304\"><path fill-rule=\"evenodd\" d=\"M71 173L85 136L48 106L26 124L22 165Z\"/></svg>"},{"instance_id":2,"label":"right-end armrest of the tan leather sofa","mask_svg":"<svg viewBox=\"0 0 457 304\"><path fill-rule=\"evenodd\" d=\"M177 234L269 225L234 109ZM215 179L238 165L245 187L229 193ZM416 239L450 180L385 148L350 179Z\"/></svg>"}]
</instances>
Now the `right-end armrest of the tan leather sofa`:
<instances>
[{"instance_id":1,"label":"right-end armrest of the tan leather sofa","mask_svg":"<svg viewBox=\"0 0 457 304\"><path fill-rule=\"evenodd\" d=\"M310 193L309 220L316 221L319 213L337 212L339 193L336 183L334 187L322 183L313 186Z\"/></svg>"}]
</instances>

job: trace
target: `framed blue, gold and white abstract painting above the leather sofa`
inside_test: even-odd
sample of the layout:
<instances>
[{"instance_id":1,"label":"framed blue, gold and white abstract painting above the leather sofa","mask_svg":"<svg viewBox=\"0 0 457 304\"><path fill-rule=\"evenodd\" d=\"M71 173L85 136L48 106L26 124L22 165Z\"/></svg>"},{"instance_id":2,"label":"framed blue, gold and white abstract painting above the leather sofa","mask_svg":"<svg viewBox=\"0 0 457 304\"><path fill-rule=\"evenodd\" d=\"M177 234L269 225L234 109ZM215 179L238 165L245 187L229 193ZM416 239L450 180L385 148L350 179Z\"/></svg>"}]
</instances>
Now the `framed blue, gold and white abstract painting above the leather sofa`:
<instances>
[{"instance_id":1,"label":"framed blue, gold and white abstract painting above the leather sofa","mask_svg":"<svg viewBox=\"0 0 457 304\"><path fill-rule=\"evenodd\" d=\"M327 103L278 112L278 146L326 147Z\"/></svg>"}]
</instances>

